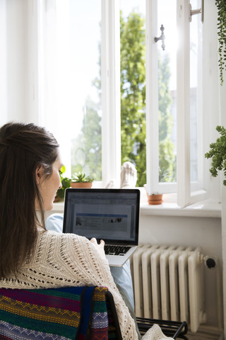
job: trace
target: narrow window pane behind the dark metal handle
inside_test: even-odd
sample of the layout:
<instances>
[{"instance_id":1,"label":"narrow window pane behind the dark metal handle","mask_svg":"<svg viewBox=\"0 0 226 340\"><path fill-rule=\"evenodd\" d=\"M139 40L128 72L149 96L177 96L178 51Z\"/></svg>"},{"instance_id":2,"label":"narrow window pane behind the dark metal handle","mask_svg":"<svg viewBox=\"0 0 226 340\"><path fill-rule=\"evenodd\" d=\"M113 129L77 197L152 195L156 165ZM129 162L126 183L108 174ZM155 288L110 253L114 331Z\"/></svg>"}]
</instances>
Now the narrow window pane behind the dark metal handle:
<instances>
[{"instance_id":1,"label":"narrow window pane behind the dark metal handle","mask_svg":"<svg viewBox=\"0 0 226 340\"><path fill-rule=\"evenodd\" d=\"M163 26L163 27L162 27ZM157 1L159 181L177 181L177 1ZM163 32L161 30L164 28Z\"/></svg>"}]
</instances>

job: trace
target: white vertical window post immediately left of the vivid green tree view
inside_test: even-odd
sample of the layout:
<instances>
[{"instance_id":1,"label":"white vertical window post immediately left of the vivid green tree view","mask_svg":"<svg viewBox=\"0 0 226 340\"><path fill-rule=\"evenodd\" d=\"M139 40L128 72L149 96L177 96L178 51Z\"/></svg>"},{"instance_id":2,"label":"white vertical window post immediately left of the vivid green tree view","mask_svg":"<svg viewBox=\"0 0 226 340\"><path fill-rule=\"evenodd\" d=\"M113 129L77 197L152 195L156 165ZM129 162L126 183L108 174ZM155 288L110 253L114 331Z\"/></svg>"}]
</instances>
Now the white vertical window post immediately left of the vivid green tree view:
<instances>
[{"instance_id":1,"label":"white vertical window post immediately left of the vivid green tree view","mask_svg":"<svg viewBox=\"0 0 226 340\"><path fill-rule=\"evenodd\" d=\"M102 0L102 185L120 183L121 95L119 0Z\"/></svg>"}]
</instances>

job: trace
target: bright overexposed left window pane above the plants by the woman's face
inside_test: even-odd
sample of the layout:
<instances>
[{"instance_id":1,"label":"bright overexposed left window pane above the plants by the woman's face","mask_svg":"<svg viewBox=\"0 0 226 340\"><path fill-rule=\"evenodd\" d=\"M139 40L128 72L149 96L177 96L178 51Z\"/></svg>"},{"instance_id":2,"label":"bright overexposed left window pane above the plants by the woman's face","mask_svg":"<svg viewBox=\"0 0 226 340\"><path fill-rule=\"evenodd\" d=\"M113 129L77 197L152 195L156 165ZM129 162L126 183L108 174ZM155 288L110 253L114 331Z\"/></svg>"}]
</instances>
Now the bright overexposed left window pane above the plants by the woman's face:
<instances>
[{"instance_id":1,"label":"bright overexposed left window pane above the plants by the woman's face","mask_svg":"<svg viewBox=\"0 0 226 340\"><path fill-rule=\"evenodd\" d=\"M101 158L101 1L70 0L71 172L102 179Z\"/></svg>"}]
</instances>

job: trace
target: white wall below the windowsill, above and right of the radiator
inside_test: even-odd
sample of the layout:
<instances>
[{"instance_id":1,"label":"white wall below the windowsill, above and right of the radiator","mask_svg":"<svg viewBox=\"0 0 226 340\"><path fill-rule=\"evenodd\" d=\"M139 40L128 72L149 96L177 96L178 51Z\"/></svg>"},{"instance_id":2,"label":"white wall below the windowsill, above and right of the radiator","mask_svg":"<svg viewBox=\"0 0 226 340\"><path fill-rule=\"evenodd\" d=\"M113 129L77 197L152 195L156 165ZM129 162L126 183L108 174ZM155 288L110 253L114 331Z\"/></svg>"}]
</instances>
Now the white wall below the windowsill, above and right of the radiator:
<instances>
[{"instance_id":1,"label":"white wall below the windowsill, above and right of the radiator","mask_svg":"<svg viewBox=\"0 0 226 340\"><path fill-rule=\"evenodd\" d=\"M175 217L141 215L139 241L143 244L201 246L206 256L216 256L222 266L221 219L211 217ZM205 268L205 300L208 324L218 325L215 271Z\"/></svg>"}]
</instances>

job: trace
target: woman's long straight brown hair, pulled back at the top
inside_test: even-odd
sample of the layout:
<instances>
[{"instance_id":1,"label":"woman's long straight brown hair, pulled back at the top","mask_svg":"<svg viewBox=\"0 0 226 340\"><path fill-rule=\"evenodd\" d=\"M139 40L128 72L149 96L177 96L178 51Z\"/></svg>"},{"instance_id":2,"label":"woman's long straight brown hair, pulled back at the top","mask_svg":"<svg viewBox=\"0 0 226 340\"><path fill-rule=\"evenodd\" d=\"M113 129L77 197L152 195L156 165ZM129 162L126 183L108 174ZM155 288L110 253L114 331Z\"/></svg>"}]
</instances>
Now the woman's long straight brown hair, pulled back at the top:
<instances>
[{"instance_id":1,"label":"woman's long straight brown hair, pulled back at the top","mask_svg":"<svg viewBox=\"0 0 226 340\"><path fill-rule=\"evenodd\" d=\"M34 124L7 123L0 128L0 277L16 274L32 254L37 225L44 227L44 208L35 177L42 165L52 174L59 145ZM35 210L40 207L41 222ZM44 227L45 229L45 227Z\"/></svg>"}]
</instances>

